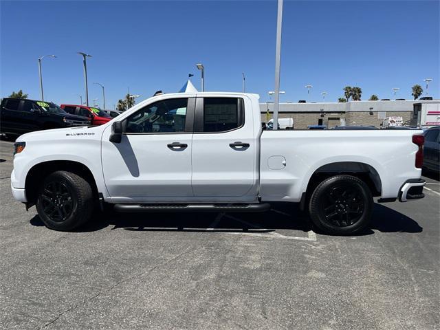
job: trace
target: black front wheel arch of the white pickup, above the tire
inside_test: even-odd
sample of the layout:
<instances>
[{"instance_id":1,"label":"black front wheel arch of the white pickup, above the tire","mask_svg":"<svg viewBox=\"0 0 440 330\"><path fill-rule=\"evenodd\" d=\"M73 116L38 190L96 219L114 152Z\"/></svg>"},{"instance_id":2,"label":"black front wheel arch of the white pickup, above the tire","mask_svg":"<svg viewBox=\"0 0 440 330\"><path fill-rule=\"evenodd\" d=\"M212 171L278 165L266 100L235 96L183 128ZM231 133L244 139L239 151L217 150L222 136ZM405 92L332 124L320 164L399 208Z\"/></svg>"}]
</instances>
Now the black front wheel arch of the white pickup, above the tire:
<instances>
[{"instance_id":1,"label":"black front wheel arch of the white pickup, above the tire","mask_svg":"<svg viewBox=\"0 0 440 330\"><path fill-rule=\"evenodd\" d=\"M43 183L45 177L58 170L65 170L83 177L90 184L94 199L98 198L96 179L85 164L71 160L53 160L36 164L28 171L25 179L25 191L29 204L35 203L39 186Z\"/></svg>"}]
</instances>

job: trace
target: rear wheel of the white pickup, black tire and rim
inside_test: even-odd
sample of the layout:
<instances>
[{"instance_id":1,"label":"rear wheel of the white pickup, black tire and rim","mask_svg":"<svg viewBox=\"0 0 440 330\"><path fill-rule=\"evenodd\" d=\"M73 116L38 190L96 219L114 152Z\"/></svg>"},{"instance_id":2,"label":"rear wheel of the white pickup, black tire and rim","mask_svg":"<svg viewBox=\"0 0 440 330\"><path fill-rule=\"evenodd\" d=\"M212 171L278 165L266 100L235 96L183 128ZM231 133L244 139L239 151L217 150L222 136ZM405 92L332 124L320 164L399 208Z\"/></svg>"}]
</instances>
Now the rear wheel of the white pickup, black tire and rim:
<instances>
[{"instance_id":1,"label":"rear wheel of the white pickup, black tire and rim","mask_svg":"<svg viewBox=\"0 0 440 330\"><path fill-rule=\"evenodd\" d=\"M336 175L322 181L309 201L311 221L327 234L362 232L371 220L373 195L364 181Z\"/></svg>"}]
</instances>

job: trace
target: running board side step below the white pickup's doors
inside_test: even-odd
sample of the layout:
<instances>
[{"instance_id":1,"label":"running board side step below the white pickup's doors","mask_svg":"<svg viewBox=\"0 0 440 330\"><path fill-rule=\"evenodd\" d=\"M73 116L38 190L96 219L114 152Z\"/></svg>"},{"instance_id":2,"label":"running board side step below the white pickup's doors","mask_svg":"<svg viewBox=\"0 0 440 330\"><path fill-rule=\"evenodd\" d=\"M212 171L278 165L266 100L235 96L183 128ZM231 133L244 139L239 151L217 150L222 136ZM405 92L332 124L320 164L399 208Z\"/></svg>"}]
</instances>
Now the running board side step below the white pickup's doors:
<instances>
[{"instance_id":1,"label":"running board side step below the white pickup's doors","mask_svg":"<svg viewBox=\"0 0 440 330\"><path fill-rule=\"evenodd\" d=\"M268 203L255 204L115 204L117 212L265 212Z\"/></svg>"}]
</instances>

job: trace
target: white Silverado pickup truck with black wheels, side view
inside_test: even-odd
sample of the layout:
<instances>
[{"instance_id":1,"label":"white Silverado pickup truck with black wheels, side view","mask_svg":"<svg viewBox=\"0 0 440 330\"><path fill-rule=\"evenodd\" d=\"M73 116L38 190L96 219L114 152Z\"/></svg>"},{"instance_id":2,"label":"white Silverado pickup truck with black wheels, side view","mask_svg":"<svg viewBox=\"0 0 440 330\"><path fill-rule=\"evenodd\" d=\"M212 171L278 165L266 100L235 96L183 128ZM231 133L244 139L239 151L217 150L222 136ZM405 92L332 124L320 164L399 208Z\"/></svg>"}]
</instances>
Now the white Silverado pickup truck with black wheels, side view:
<instances>
[{"instance_id":1,"label":"white Silverado pickup truck with black wheels, side view","mask_svg":"<svg viewBox=\"0 0 440 330\"><path fill-rule=\"evenodd\" d=\"M21 135L11 186L54 230L76 228L106 203L257 212L285 201L320 230L351 234L368 225L373 197L423 197L421 133L262 131L258 95L159 94L101 126Z\"/></svg>"}]
</instances>

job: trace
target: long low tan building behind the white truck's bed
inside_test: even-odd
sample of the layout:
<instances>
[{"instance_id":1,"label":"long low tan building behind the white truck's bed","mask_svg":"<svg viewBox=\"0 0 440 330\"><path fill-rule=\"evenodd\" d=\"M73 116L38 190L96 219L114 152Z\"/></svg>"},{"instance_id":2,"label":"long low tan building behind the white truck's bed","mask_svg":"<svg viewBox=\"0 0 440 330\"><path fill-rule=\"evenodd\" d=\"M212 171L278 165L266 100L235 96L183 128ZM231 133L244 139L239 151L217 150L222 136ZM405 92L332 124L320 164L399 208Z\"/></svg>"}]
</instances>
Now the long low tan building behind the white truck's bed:
<instances>
[{"instance_id":1,"label":"long low tan building behind the white truck's bed","mask_svg":"<svg viewBox=\"0 0 440 330\"><path fill-rule=\"evenodd\" d=\"M294 129L307 129L309 125L327 127L355 125L380 127L384 118L399 116L403 122L410 120L415 103L419 100L351 101L316 103L280 103L278 118L293 118ZM435 101L434 101L435 102ZM438 102L438 100L437 100ZM272 119L274 103L260 103L261 120ZM267 115L269 111L269 115Z\"/></svg>"}]
</instances>

